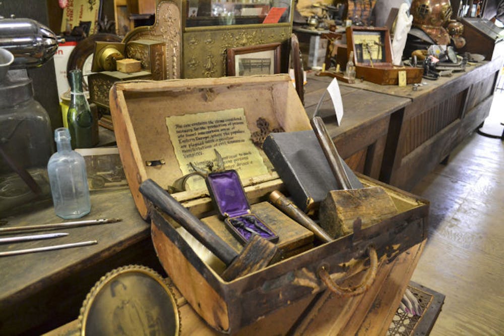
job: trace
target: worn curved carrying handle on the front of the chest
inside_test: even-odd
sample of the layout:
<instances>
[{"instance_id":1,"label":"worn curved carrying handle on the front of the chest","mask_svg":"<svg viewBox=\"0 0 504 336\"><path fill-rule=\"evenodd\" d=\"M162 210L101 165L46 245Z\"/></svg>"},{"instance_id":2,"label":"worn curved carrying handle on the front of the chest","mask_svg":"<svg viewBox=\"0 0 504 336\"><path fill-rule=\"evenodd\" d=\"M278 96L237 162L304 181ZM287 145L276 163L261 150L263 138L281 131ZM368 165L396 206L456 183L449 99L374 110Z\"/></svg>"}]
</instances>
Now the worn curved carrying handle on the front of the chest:
<instances>
[{"instance_id":1,"label":"worn curved carrying handle on the front of the chest","mask_svg":"<svg viewBox=\"0 0 504 336\"><path fill-rule=\"evenodd\" d=\"M376 277L376 271L378 270L378 256L376 254L376 249L374 247L369 246L367 248L369 253L369 269L366 273L361 284L354 287L340 287L338 286L333 279L331 279L331 274L327 271L327 269L323 266L319 269L318 274L321 278L322 282L327 286L327 288L336 295L340 296L356 296L364 293L371 287L374 282L374 278Z\"/></svg>"}]
</instances>

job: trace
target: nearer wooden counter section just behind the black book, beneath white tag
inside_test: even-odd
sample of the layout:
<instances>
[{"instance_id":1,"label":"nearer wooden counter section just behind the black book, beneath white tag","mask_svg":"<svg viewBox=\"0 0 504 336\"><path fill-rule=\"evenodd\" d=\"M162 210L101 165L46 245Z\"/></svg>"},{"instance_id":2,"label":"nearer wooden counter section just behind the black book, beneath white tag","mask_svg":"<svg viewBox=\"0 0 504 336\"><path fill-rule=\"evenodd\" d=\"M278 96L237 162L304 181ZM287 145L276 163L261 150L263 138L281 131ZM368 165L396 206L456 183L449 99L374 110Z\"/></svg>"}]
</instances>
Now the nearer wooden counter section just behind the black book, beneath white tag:
<instances>
[{"instance_id":1,"label":"nearer wooden counter section just behind the black book, beneath white tag","mask_svg":"<svg viewBox=\"0 0 504 336\"><path fill-rule=\"evenodd\" d=\"M309 75L304 97L309 118L313 116L317 103L331 81L330 77ZM390 118L395 113L403 113L411 100L341 84L344 109L341 125L336 124L329 94L324 97L319 116L323 117L339 154L348 165L356 172L378 179Z\"/></svg>"}]
</instances>

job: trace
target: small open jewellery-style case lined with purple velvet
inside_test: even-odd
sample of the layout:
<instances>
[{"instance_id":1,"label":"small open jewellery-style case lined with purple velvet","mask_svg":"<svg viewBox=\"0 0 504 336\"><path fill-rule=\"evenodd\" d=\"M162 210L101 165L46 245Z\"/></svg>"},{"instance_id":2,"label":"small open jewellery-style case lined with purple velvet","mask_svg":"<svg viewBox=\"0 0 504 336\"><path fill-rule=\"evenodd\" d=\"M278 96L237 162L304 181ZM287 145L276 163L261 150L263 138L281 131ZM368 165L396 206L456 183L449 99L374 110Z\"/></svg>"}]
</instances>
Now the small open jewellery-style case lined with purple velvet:
<instances>
[{"instance_id":1,"label":"small open jewellery-style case lined with purple velvet","mask_svg":"<svg viewBox=\"0 0 504 336\"><path fill-rule=\"evenodd\" d=\"M234 170L210 173L206 179L208 191L224 217L226 227L242 244L253 234L278 241L278 236L258 216L251 213L238 173Z\"/></svg>"}]
</instances>

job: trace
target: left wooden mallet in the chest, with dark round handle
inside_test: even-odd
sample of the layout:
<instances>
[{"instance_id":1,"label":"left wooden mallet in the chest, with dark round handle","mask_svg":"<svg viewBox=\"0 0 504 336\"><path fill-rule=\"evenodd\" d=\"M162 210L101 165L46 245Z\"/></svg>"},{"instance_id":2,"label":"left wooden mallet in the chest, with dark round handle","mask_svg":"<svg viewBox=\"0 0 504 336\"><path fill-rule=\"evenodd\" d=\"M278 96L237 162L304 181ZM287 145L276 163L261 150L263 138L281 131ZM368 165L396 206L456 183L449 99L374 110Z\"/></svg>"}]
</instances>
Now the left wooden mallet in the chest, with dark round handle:
<instances>
[{"instance_id":1,"label":"left wooden mallet in the chest, with dark round handle","mask_svg":"<svg viewBox=\"0 0 504 336\"><path fill-rule=\"evenodd\" d=\"M226 270L221 274L225 281L231 281L239 276L260 270L280 259L280 252L276 245L259 235L254 235L243 247L241 253L236 253L203 221L151 179L144 181L139 189L145 198L170 215L181 227L226 264Z\"/></svg>"}]
</instances>

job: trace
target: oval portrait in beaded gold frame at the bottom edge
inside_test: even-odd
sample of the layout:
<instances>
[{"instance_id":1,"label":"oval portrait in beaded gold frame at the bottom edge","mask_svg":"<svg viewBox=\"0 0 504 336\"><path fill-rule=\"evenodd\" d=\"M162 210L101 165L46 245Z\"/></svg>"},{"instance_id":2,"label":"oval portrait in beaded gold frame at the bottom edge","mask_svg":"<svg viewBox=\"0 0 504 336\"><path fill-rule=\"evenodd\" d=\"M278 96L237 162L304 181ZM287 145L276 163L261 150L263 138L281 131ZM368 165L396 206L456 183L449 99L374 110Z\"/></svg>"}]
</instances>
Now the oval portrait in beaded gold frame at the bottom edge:
<instances>
[{"instance_id":1,"label":"oval portrait in beaded gold frame at the bottom edge","mask_svg":"<svg viewBox=\"0 0 504 336\"><path fill-rule=\"evenodd\" d=\"M85 335L179 335L180 312L169 279L154 270L129 265L100 278L79 315Z\"/></svg>"}]
</instances>

